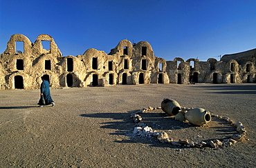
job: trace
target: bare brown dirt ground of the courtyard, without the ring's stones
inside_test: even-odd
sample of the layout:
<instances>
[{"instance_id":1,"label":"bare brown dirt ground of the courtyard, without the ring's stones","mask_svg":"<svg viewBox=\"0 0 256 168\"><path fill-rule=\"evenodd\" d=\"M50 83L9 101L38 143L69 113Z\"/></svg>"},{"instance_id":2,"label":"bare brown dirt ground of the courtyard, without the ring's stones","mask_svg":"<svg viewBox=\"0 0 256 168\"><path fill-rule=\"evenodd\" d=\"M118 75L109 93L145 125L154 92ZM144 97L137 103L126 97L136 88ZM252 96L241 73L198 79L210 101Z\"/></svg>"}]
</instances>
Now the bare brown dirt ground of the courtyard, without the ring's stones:
<instances>
[{"instance_id":1,"label":"bare brown dirt ground of the courtyard, without the ring's stones","mask_svg":"<svg viewBox=\"0 0 256 168\"><path fill-rule=\"evenodd\" d=\"M0 167L256 167L256 84L149 84L51 89L55 107L37 107L39 90L0 91ZM244 142L230 147L177 147L133 134L131 112L172 98L240 121ZM141 114L174 140L224 139L235 127L173 120L161 109Z\"/></svg>"}]
</instances>

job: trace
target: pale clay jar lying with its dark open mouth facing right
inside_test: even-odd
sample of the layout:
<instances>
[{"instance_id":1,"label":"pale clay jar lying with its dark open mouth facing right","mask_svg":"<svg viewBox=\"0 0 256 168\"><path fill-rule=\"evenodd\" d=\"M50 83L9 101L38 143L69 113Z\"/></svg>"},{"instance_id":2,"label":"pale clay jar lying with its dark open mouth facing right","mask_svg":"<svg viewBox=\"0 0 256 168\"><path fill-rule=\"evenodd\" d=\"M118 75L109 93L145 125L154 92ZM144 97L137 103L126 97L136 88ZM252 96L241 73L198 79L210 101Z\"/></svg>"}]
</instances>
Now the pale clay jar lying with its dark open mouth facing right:
<instances>
[{"instance_id":1,"label":"pale clay jar lying with its dark open mouth facing right","mask_svg":"<svg viewBox=\"0 0 256 168\"><path fill-rule=\"evenodd\" d=\"M202 108L190 109L185 113L186 120L194 125L204 125L212 120L210 112Z\"/></svg>"}]
</instances>

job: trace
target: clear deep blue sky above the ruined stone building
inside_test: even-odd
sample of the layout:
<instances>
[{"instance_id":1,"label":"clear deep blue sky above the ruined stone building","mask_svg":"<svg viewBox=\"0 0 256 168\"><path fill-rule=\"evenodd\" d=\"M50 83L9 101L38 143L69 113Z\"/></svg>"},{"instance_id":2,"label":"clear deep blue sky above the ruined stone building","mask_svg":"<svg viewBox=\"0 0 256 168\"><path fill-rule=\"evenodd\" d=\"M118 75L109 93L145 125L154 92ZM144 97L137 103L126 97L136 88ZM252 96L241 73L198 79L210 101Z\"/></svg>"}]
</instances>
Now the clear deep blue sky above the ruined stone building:
<instances>
[{"instance_id":1,"label":"clear deep blue sky above the ruined stone building","mask_svg":"<svg viewBox=\"0 0 256 168\"><path fill-rule=\"evenodd\" d=\"M147 41L155 56L219 60L256 48L256 1L0 0L0 53L12 34L32 43L49 34L64 56L89 48L107 54L127 39Z\"/></svg>"}]
</instances>

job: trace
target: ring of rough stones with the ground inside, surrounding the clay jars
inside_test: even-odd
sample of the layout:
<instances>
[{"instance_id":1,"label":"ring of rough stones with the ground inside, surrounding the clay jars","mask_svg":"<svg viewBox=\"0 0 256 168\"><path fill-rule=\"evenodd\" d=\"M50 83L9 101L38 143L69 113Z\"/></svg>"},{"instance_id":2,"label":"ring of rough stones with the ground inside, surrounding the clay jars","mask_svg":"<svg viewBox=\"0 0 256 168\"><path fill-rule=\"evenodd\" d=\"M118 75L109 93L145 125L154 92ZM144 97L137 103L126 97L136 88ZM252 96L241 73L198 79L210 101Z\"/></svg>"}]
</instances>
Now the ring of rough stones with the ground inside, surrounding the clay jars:
<instances>
[{"instance_id":1,"label":"ring of rough stones with the ground inside, surrounding the clay jars","mask_svg":"<svg viewBox=\"0 0 256 168\"><path fill-rule=\"evenodd\" d=\"M181 107L181 109L191 108ZM179 147L228 147L239 141L248 140L246 129L241 122L217 114L211 113L211 116L210 123L196 126L188 120L181 122L176 120L175 116L166 116L161 107L148 107L134 110L130 118L136 123L134 135L156 138L161 143L170 143Z\"/></svg>"}]
</instances>

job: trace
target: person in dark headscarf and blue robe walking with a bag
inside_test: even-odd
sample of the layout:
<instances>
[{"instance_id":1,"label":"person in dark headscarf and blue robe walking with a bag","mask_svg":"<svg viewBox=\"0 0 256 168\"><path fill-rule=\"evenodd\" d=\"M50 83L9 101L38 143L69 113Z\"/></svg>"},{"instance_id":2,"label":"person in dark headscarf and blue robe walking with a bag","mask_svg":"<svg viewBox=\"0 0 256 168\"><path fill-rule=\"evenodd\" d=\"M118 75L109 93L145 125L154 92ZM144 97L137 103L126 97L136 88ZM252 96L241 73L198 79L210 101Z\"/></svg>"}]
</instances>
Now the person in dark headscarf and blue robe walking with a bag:
<instances>
[{"instance_id":1,"label":"person in dark headscarf and blue robe walking with a bag","mask_svg":"<svg viewBox=\"0 0 256 168\"><path fill-rule=\"evenodd\" d=\"M37 103L38 105L40 105L39 107L43 107L43 105L52 105L52 107L55 105L53 98L51 97L51 92L50 92L50 84L47 81L46 76L42 76L42 84L40 87L40 100L39 103ZM44 101L42 100L42 98L44 98Z\"/></svg>"}]
</instances>

